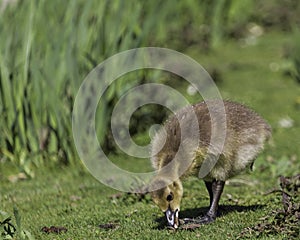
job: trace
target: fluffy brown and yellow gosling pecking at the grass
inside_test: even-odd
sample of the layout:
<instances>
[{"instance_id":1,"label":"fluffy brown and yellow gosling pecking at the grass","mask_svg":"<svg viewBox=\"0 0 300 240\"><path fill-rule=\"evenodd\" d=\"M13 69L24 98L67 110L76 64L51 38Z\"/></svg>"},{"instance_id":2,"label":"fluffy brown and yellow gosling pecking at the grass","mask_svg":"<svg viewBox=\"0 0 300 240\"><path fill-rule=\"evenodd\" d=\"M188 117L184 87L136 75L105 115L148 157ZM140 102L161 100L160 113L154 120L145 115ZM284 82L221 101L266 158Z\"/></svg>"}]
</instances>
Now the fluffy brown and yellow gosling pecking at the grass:
<instances>
[{"instance_id":1,"label":"fluffy brown and yellow gosling pecking at the grass","mask_svg":"<svg viewBox=\"0 0 300 240\"><path fill-rule=\"evenodd\" d=\"M220 102L222 104L220 104ZM208 102L207 102L208 103ZM231 101L211 100L212 111L215 113L225 113L223 122L226 123L224 145L221 150L209 152L213 145L210 142L212 137L212 126L217 130L222 122L211 117L211 108L206 102L200 102L190 108L183 108L174 116L170 117L165 125L154 137L152 142L151 162L153 167L158 170L158 175L153 180L153 186L162 186L158 190L151 192L153 201L160 207L167 217L168 224L173 228L178 228L180 202L183 195L181 180L189 175L196 175L203 178L210 197L210 207L206 215L202 218L184 219L185 222L196 222L199 224L210 223L217 217L219 200L224 188L225 181L247 167L252 167L258 153L263 149L264 142L271 136L271 128L257 113L242 104ZM224 105L223 105L224 104ZM225 112L224 112L225 109ZM194 112L194 113L192 113ZM197 118L199 132L198 145L194 149L186 171L179 172L180 166L184 165L188 158L188 149L175 157L179 149L180 142L188 142L188 136L182 138L180 134L180 119L184 125L189 121L189 116L195 114ZM220 115L220 118L222 116ZM226 120L225 120L226 119ZM187 123L189 124L189 123ZM221 131L221 130L220 130ZM220 132L220 135L222 133ZM188 145L188 144L187 144ZM213 155L209 157L208 155ZM216 162L213 157L216 157ZM172 163L173 166L163 170L165 166ZM212 162L206 176L201 176L204 162ZM206 163L207 164L207 163ZM157 189L157 188L156 188Z\"/></svg>"}]
</instances>

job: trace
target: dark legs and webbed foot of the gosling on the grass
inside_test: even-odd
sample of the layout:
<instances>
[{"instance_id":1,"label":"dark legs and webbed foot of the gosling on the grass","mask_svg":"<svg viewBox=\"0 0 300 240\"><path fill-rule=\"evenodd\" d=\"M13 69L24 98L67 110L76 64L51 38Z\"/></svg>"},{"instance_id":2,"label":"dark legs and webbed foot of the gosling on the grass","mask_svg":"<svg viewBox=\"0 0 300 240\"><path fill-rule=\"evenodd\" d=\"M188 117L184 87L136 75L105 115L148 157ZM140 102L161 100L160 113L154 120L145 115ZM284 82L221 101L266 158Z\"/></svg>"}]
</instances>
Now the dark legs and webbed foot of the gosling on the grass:
<instances>
[{"instance_id":1,"label":"dark legs and webbed foot of the gosling on the grass","mask_svg":"<svg viewBox=\"0 0 300 240\"><path fill-rule=\"evenodd\" d=\"M204 217L198 217L196 219L191 218L185 218L185 223L198 223L198 224L206 224L213 222L218 213L218 207L219 207L219 201L224 189L225 182L224 181L218 181L215 180L213 182L205 182L205 186L207 188L207 191L209 193L210 198L210 206L209 210L206 213Z\"/></svg>"}]
</instances>

